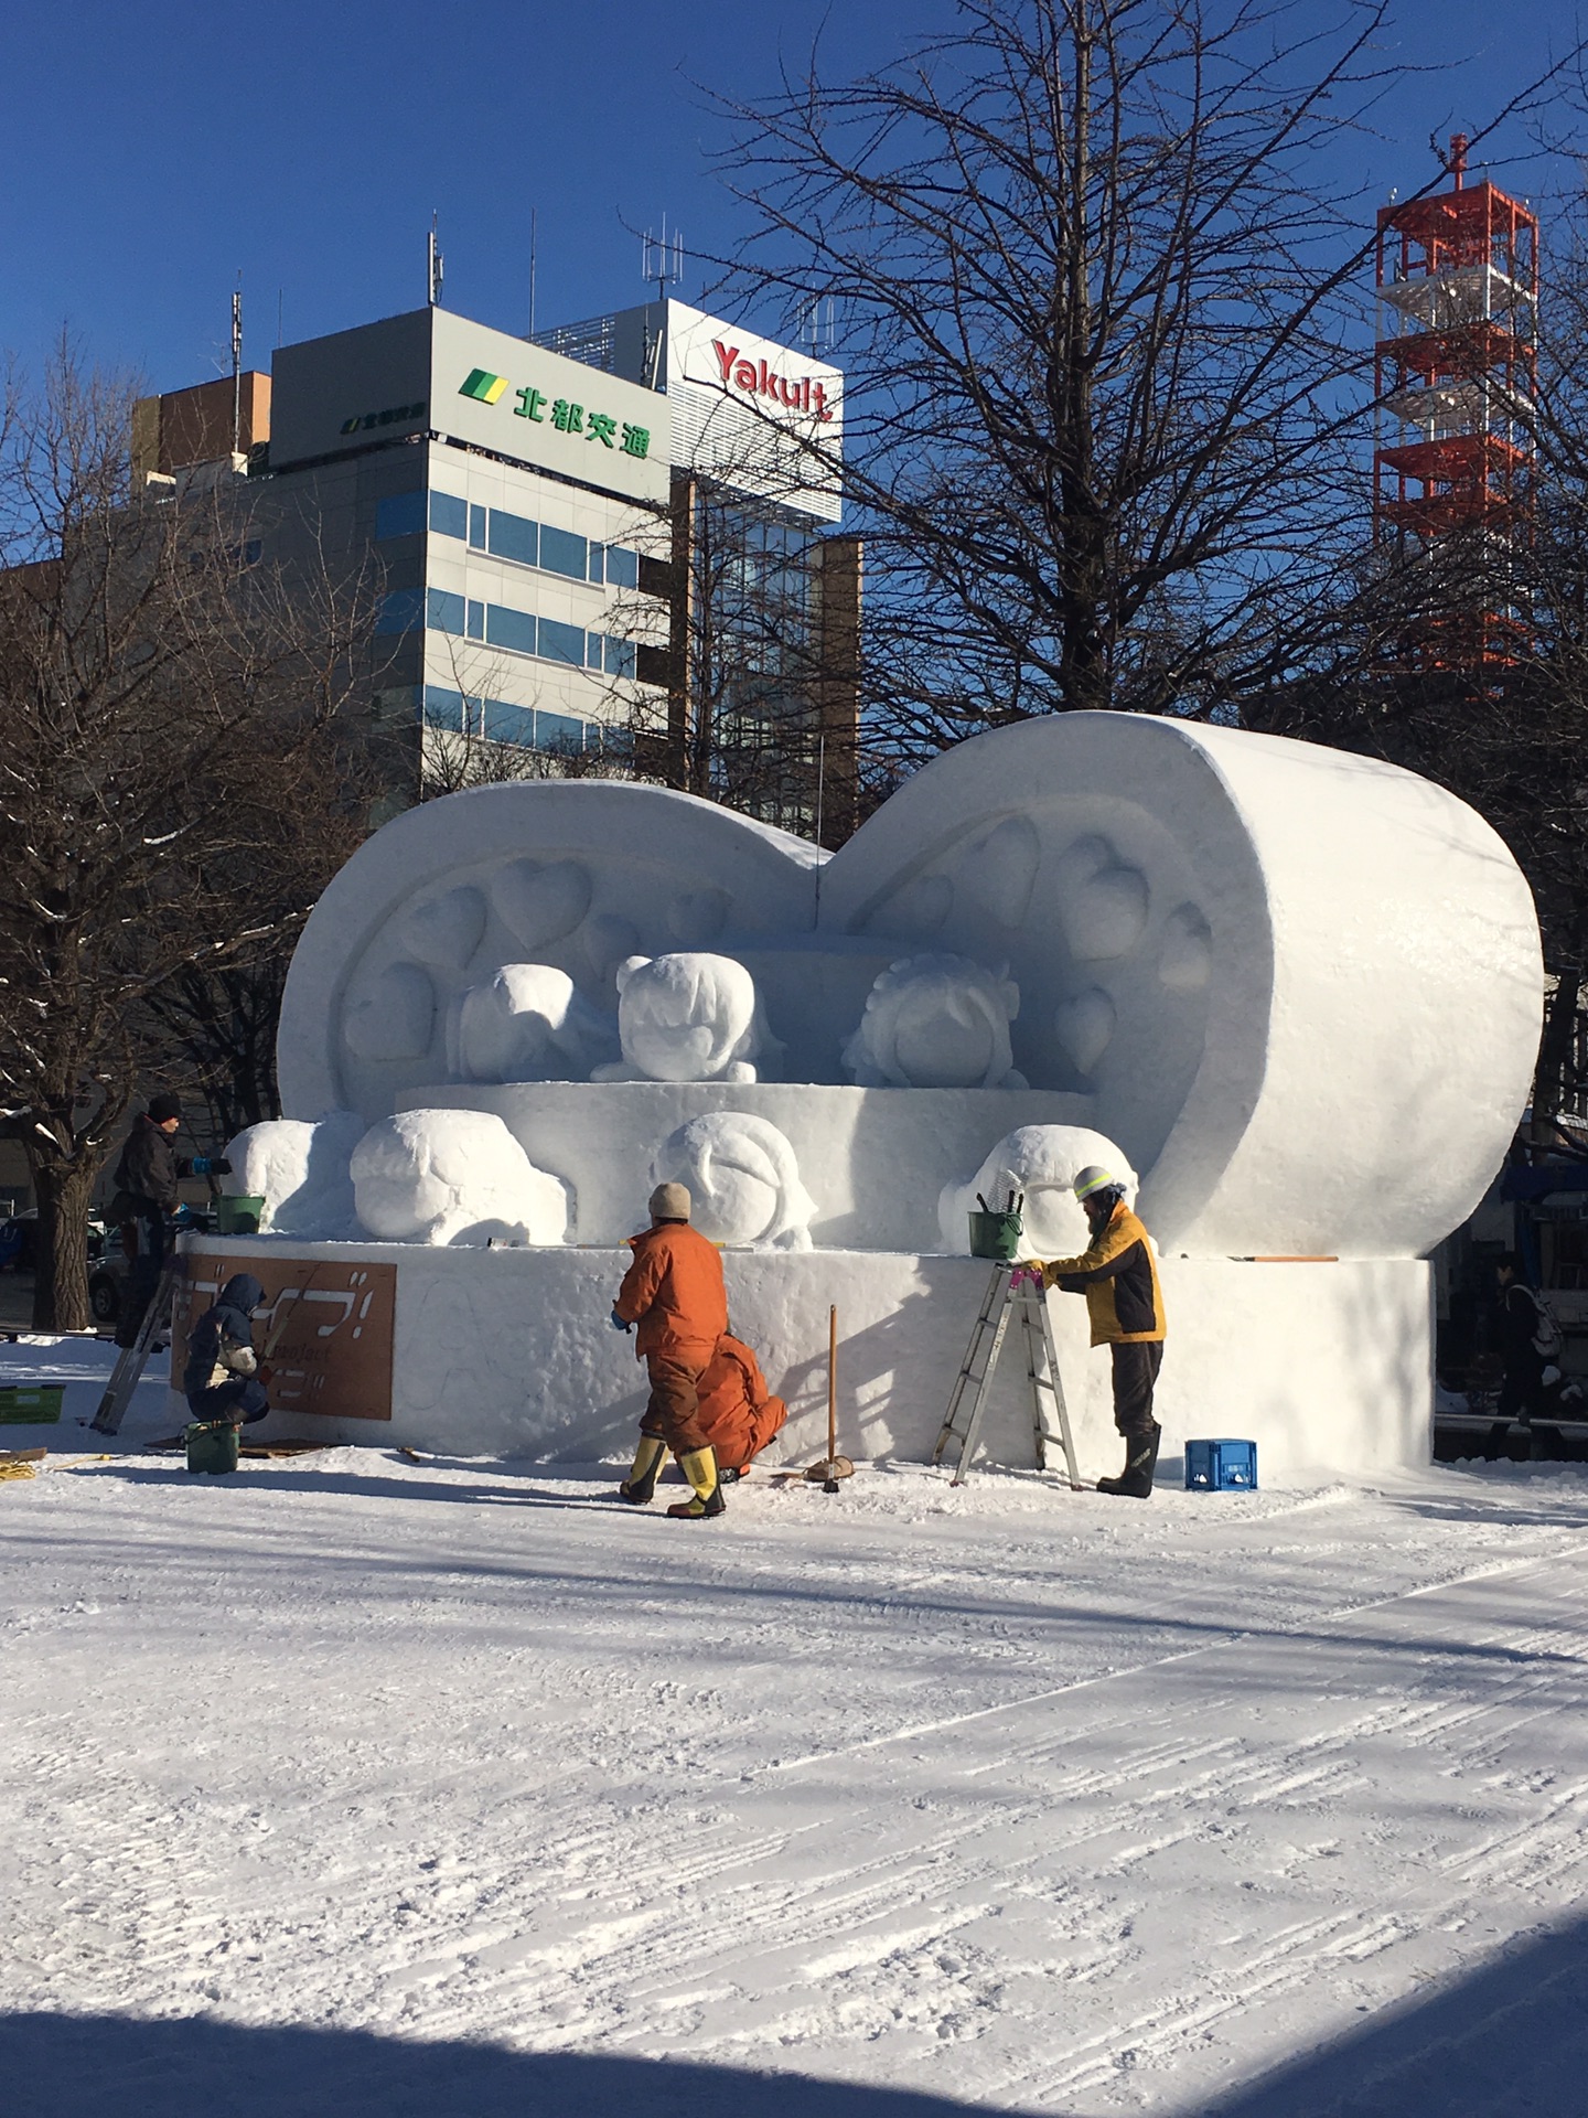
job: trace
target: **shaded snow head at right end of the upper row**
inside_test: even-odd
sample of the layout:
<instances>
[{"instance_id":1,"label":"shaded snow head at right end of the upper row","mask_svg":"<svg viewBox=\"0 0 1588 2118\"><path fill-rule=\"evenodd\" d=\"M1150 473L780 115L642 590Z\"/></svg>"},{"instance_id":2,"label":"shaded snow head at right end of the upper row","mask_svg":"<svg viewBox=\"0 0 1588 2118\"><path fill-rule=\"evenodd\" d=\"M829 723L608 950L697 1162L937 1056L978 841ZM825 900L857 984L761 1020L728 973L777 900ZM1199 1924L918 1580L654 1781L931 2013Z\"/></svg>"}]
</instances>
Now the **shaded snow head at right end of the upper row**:
<instances>
[{"instance_id":1,"label":"shaded snow head at right end of the upper row","mask_svg":"<svg viewBox=\"0 0 1588 2118\"><path fill-rule=\"evenodd\" d=\"M843 1048L858 1089L1025 1089L1010 1051L1021 989L1008 964L968 955L904 955L866 995Z\"/></svg>"}]
</instances>

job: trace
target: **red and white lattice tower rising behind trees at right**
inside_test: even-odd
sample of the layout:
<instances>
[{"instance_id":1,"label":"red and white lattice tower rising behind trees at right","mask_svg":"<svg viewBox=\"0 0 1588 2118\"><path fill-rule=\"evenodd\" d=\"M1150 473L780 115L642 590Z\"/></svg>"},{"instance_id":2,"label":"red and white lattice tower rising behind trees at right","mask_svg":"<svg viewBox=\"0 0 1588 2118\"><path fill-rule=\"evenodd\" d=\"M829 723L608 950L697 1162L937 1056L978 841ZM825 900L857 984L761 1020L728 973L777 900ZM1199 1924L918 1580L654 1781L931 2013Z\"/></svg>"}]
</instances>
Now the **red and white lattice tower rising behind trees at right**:
<instances>
[{"instance_id":1,"label":"red and white lattice tower rising behind trees at right","mask_svg":"<svg viewBox=\"0 0 1588 2118\"><path fill-rule=\"evenodd\" d=\"M1397 659L1482 680L1527 638L1539 225L1465 182L1465 133L1448 169L1448 191L1378 210L1374 396L1395 428L1374 449L1374 544L1427 574Z\"/></svg>"}]
</instances>

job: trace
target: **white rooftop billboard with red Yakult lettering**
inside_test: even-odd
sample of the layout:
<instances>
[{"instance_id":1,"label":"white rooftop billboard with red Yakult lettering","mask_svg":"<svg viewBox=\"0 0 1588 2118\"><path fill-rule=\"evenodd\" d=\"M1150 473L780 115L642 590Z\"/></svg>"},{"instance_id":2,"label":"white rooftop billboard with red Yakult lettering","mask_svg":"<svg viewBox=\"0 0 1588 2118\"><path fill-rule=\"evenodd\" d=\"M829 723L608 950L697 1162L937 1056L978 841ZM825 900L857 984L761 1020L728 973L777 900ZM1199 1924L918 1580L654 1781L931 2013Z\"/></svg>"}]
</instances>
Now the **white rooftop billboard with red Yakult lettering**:
<instances>
[{"instance_id":1,"label":"white rooftop billboard with red Yakult lettering","mask_svg":"<svg viewBox=\"0 0 1588 2118\"><path fill-rule=\"evenodd\" d=\"M688 303L667 303L673 462L802 515L841 513L843 375Z\"/></svg>"}]
</instances>

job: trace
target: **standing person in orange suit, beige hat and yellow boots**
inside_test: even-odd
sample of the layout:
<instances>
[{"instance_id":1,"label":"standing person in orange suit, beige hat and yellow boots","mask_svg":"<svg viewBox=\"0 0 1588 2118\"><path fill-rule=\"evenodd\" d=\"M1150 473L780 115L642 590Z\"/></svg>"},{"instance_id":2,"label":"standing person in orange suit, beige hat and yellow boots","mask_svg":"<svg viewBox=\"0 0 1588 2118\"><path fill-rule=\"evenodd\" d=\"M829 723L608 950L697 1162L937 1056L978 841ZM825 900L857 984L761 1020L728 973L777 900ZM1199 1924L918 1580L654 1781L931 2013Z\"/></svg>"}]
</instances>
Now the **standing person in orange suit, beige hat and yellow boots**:
<instances>
[{"instance_id":1,"label":"standing person in orange suit, beige hat and yellow boots","mask_svg":"<svg viewBox=\"0 0 1588 2118\"><path fill-rule=\"evenodd\" d=\"M650 1372L650 1404L639 1421L633 1470L618 1487L622 1500L644 1506L656 1491L656 1472L671 1449L692 1493L669 1514L697 1521L722 1514L722 1480L711 1438L701 1425L701 1375L728 1328L722 1258L690 1228L684 1184L658 1184L650 1195L650 1226L629 1237L633 1264L612 1305L618 1330L639 1328L635 1353Z\"/></svg>"}]
</instances>

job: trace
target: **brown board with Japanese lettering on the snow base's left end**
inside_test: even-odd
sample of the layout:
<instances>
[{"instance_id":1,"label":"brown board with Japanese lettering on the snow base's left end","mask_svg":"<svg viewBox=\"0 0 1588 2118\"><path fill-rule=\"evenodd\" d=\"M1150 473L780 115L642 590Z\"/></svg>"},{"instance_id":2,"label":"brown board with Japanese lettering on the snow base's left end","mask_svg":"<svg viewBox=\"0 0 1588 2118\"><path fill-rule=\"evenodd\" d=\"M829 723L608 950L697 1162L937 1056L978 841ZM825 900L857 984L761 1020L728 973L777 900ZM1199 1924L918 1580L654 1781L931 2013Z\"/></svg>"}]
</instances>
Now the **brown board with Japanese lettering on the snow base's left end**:
<instances>
[{"instance_id":1,"label":"brown board with Japanese lettering on the snow base's left end","mask_svg":"<svg viewBox=\"0 0 1588 2118\"><path fill-rule=\"evenodd\" d=\"M254 1345L273 1413L392 1417L396 1264L188 1252L188 1298L186 1307L178 1300L172 1330L178 1385L188 1330L233 1273L252 1273L265 1288L263 1309L254 1313Z\"/></svg>"}]
</instances>

